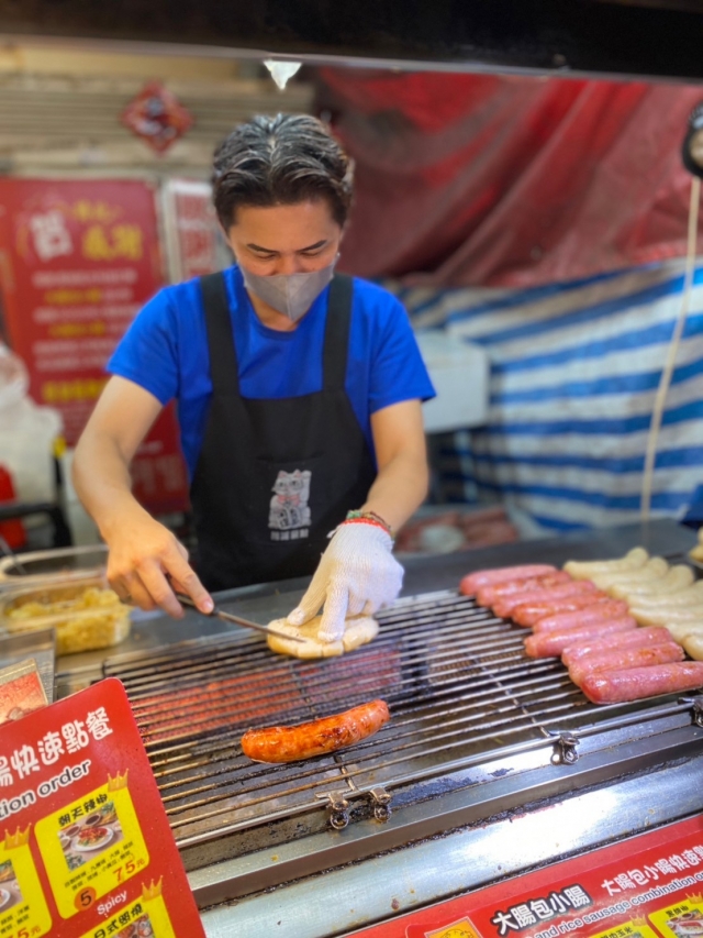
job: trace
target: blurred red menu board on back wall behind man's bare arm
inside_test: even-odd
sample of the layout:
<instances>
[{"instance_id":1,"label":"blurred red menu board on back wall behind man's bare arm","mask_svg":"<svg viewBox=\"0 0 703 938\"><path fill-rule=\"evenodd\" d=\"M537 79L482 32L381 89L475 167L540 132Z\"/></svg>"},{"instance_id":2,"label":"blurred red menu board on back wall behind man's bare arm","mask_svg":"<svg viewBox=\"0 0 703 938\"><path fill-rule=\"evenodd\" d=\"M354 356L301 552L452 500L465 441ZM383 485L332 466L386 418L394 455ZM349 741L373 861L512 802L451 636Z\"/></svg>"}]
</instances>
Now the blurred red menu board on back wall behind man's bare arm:
<instances>
[{"instance_id":1,"label":"blurred red menu board on back wall behind man's bare arm","mask_svg":"<svg viewBox=\"0 0 703 938\"><path fill-rule=\"evenodd\" d=\"M0 179L0 287L9 341L37 404L75 445L132 319L161 286L154 192L116 179ZM172 408L134 462L152 511L182 510L188 483Z\"/></svg>"}]
</instances>

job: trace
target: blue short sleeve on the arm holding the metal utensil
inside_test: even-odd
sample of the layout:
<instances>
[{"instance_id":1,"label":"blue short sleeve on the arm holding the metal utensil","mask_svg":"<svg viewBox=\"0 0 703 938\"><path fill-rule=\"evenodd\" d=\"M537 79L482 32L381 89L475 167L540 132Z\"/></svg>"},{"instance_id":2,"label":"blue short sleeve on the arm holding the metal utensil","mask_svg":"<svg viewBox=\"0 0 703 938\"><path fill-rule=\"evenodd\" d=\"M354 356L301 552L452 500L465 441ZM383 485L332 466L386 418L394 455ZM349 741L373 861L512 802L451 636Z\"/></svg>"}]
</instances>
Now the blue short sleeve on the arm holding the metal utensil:
<instances>
[{"instance_id":1,"label":"blue short sleeve on the arm holding the metal utensil","mask_svg":"<svg viewBox=\"0 0 703 938\"><path fill-rule=\"evenodd\" d=\"M143 387L164 406L178 395L178 330L171 288L159 290L140 312L108 362L107 371Z\"/></svg>"}]
</instances>

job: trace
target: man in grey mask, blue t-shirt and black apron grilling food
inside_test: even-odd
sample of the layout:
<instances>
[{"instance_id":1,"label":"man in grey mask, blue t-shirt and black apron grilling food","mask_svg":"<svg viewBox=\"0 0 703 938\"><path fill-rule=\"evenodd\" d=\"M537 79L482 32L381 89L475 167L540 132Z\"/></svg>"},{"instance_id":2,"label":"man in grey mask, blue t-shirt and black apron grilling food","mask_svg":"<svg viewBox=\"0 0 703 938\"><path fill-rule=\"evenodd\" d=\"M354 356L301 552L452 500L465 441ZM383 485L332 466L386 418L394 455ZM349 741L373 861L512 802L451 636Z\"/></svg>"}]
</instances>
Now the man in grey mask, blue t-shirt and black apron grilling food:
<instances>
[{"instance_id":1,"label":"man in grey mask, blue t-shirt and black apron grilling food","mask_svg":"<svg viewBox=\"0 0 703 938\"><path fill-rule=\"evenodd\" d=\"M207 613L207 589L316 571L289 621L324 604L320 638L337 640L345 616L400 592L392 530L426 494L421 400L434 390L402 306L333 278L352 166L323 124L238 126L215 153L213 198L236 265L160 290L136 317L78 443L75 486L122 598L178 617L175 589ZM130 462L171 398L199 575L131 494Z\"/></svg>"}]
</instances>

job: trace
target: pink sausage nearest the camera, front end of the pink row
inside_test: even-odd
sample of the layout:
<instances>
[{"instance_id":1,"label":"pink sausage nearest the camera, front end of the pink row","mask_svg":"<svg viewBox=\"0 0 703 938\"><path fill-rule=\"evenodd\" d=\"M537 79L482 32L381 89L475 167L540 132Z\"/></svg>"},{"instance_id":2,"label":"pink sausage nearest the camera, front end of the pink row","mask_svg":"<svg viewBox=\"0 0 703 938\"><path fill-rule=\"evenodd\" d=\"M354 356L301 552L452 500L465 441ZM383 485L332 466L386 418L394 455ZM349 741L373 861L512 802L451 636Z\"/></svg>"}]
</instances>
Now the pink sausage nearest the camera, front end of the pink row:
<instances>
[{"instance_id":1,"label":"pink sausage nearest the camera, front end of the pink row","mask_svg":"<svg viewBox=\"0 0 703 938\"><path fill-rule=\"evenodd\" d=\"M699 687L703 687L703 661L596 672L587 675L581 684L581 689L594 704L621 704Z\"/></svg>"}]
</instances>

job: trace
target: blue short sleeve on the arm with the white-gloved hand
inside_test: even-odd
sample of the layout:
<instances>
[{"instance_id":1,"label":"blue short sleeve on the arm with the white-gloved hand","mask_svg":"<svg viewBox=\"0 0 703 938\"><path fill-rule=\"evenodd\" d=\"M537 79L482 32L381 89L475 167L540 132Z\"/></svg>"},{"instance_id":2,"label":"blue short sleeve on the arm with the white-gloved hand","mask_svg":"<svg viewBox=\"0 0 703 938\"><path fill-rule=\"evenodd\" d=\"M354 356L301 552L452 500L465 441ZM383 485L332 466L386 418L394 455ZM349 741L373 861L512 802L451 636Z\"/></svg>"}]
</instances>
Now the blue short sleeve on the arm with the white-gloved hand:
<instances>
[{"instance_id":1,"label":"blue short sleeve on the arm with the white-gloved hand","mask_svg":"<svg viewBox=\"0 0 703 938\"><path fill-rule=\"evenodd\" d=\"M429 400L435 396L405 308L391 295L384 306L371 357L371 413L403 400Z\"/></svg>"}]
</instances>

